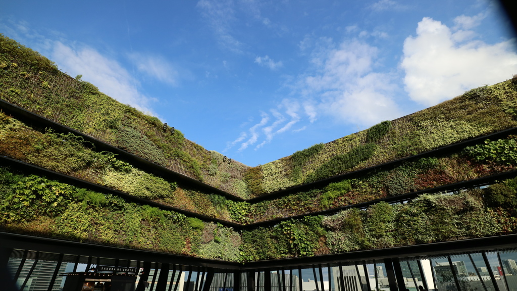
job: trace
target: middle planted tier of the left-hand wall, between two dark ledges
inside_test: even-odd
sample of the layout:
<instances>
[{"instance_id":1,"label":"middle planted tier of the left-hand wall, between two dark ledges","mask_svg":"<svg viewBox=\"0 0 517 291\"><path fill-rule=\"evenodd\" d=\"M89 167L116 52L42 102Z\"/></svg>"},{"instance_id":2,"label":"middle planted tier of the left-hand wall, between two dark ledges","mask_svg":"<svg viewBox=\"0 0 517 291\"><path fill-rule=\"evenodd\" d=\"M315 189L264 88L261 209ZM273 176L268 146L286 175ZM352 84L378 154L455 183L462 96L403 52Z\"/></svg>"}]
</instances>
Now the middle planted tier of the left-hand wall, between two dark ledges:
<instances>
[{"instance_id":1,"label":"middle planted tier of the left-hand wall, between two dark ledges","mask_svg":"<svg viewBox=\"0 0 517 291\"><path fill-rule=\"evenodd\" d=\"M227 209L238 202L178 187L176 181L133 167L112 152L96 151L80 136L58 134L49 128L39 132L2 111L0 140L0 154L19 161L215 219L231 222L239 218Z\"/></svg>"}]
</instances>

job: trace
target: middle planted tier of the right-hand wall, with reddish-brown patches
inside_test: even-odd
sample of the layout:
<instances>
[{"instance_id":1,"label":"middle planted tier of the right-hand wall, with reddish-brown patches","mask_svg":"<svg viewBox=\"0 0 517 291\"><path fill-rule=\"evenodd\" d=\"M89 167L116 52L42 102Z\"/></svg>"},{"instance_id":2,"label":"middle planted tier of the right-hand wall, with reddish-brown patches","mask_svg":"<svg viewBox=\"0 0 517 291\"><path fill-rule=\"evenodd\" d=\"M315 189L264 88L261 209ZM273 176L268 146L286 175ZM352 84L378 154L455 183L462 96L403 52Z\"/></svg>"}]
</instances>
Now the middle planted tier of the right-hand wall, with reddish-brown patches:
<instances>
[{"instance_id":1,"label":"middle planted tier of the right-hand wall, with reddish-brown patches","mask_svg":"<svg viewBox=\"0 0 517 291\"><path fill-rule=\"evenodd\" d=\"M346 207L516 169L517 137L486 139L455 153L404 161L309 191L248 203L246 216L240 222L256 223Z\"/></svg>"}]
</instances>

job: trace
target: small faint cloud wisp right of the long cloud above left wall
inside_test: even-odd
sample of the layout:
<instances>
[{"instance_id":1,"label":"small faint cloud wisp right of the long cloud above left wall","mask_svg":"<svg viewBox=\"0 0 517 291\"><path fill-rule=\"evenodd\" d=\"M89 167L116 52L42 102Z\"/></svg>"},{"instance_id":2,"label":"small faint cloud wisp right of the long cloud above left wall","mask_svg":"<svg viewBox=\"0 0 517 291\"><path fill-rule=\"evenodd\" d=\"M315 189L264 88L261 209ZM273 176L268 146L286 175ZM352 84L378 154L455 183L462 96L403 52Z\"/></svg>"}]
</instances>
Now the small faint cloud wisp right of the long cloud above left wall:
<instances>
[{"instance_id":1,"label":"small faint cloud wisp right of the long cloud above left wall","mask_svg":"<svg viewBox=\"0 0 517 291\"><path fill-rule=\"evenodd\" d=\"M130 55L130 58L136 68L148 76L170 85L178 84L178 71L163 57L133 53Z\"/></svg>"}]
</instances>

